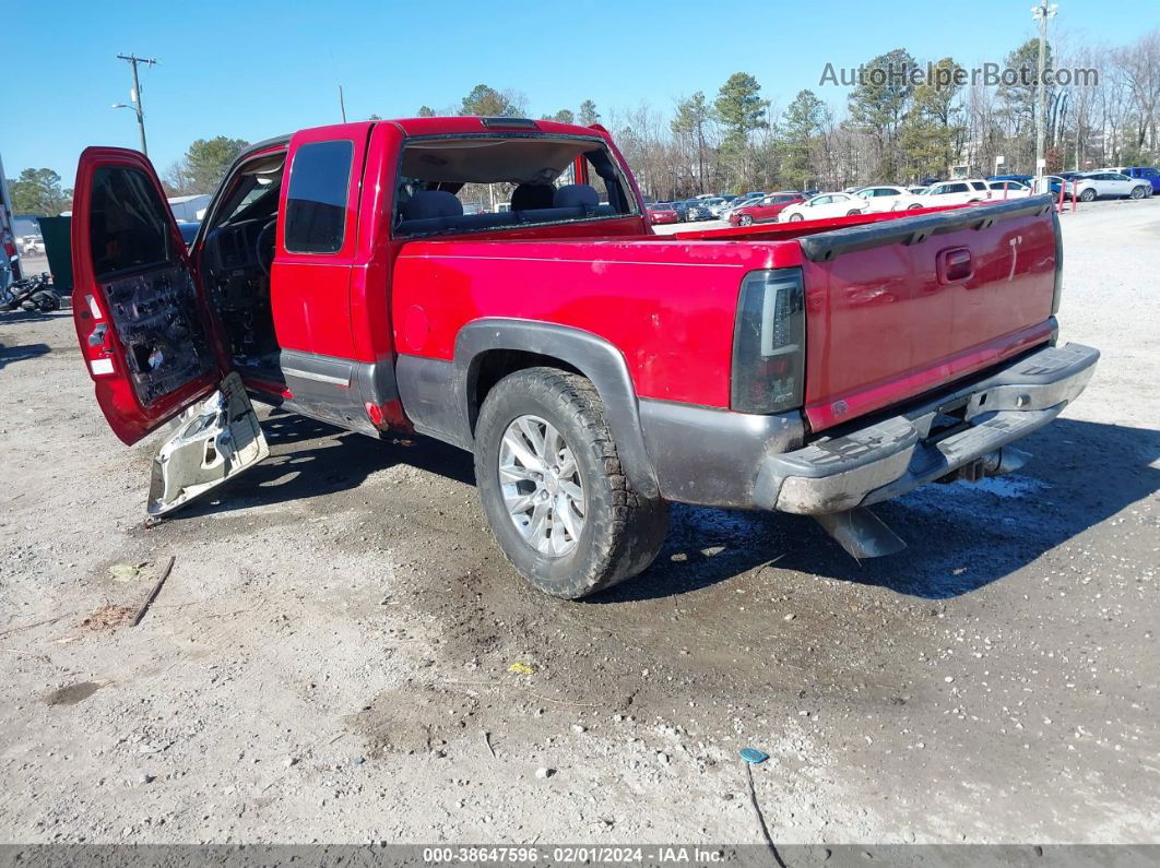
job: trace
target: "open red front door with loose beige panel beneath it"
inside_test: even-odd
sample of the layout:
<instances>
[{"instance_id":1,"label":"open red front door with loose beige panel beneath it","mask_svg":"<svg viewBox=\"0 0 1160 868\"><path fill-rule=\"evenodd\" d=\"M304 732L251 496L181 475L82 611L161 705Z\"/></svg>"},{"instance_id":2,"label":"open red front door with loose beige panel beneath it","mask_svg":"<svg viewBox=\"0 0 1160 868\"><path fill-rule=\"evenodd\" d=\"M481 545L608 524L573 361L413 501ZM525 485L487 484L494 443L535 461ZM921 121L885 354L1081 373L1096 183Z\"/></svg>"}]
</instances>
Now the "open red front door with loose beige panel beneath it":
<instances>
[{"instance_id":1,"label":"open red front door with loose beige panel beneath it","mask_svg":"<svg viewBox=\"0 0 1160 868\"><path fill-rule=\"evenodd\" d=\"M126 444L179 418L153 461L161 516L269 454L161 183L137 151L86 148L72 219L73 322L96 401Z\"/></svg>"}]
</instances>

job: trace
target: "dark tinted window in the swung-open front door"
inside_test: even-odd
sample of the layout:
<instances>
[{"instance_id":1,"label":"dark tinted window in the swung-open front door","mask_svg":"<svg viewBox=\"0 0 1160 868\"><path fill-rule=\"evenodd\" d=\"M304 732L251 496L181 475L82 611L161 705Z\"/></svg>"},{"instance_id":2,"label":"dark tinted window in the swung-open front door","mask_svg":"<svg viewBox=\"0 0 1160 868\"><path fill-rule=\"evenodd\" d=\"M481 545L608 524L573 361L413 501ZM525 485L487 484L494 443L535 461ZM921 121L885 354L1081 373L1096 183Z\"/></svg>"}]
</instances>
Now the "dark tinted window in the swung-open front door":
<instances>
[{"instance_id":1,"label":"dark tinted window in the swung-open front door","mask_svg":"<svg viewBox=\"0 0 1160 868\"><path fill-rule=\"evenodd\" d=\"M88 231L96 278L169 262L168 209L140 169L97 168Z\"/></svg>"}]
</instances>

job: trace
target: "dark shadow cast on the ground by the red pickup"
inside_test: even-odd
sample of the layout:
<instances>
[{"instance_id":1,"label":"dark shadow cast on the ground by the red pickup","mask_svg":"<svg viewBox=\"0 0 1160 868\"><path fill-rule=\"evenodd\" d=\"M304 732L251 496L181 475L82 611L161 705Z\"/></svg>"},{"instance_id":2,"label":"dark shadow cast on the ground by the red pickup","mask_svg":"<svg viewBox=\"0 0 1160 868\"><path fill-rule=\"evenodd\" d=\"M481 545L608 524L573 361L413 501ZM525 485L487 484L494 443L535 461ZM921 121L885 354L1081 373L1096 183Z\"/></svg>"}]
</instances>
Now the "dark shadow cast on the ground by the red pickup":
<instances>
[{"instance_id":1,"label":"dark shadow cast on the ground by the red pickup","mask_svg":"<svg viewBox=\"0 0 1160 868\"><path fill-rule=\"evenodd\" d=\"M331 495L394 465L474 481L471 455L436 440L380 442L280 413L263 424L275 454L217 499L176 518ZM590 601L683 595L762 564L945 599L1010 575L1160 490L1160 468L1152 466L1160 457L1158 431L1059 420L1021 445L1034 455L1021 474L977 486L931 484L876 506L908 544L884 559L855 561L810 518L675 504L653 566Z\"/></svg>"}]
</instances>

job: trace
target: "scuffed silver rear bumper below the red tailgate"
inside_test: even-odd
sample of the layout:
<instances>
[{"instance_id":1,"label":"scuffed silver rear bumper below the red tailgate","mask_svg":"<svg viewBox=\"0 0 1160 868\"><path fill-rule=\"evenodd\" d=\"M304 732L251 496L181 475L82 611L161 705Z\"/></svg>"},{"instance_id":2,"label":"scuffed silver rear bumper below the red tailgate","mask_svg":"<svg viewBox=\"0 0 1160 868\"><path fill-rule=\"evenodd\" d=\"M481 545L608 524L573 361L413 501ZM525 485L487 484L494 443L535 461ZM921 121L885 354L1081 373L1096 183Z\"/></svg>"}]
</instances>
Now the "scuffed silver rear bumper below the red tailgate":
<instances>
[{"instance_id":1,"label":"scuffed silver rear bumper below the red tailgate","mask_svg":"<svg viewBox=\"0 0 1160 868\"><path fill-rule=\"evenodd\" d=\"M998 472L1000 451L1056 418L1087 386L1099 358L1080 344L1044 348L904 414L769 455L754 505L826 515L897 497L977 462ZM958 424L931 436L950 420Z\"/></svg>"}]
</instances>

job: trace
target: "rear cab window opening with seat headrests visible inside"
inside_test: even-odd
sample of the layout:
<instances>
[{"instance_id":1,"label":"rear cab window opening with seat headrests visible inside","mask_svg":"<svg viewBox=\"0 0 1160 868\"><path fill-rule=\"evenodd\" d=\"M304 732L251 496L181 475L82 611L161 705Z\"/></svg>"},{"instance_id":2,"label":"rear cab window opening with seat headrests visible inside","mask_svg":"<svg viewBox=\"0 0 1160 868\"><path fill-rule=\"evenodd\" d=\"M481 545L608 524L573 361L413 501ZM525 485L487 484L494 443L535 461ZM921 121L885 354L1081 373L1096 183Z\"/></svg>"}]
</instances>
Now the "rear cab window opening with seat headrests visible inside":
<instances>
[{"instance_id":1,"label":"rear cab window opening with seat headrests visible inside","mask_svg":"<svg viewBox=\"0 0 1160 868\"><path fill-rule=\"evenodd\" d=\"M577 158L587 169L586 183L575 176ZM623 172L602 139L546 133L408 139L400 154L393 209L397 238L638 213Z\"/></svg>"}]
</instances>

